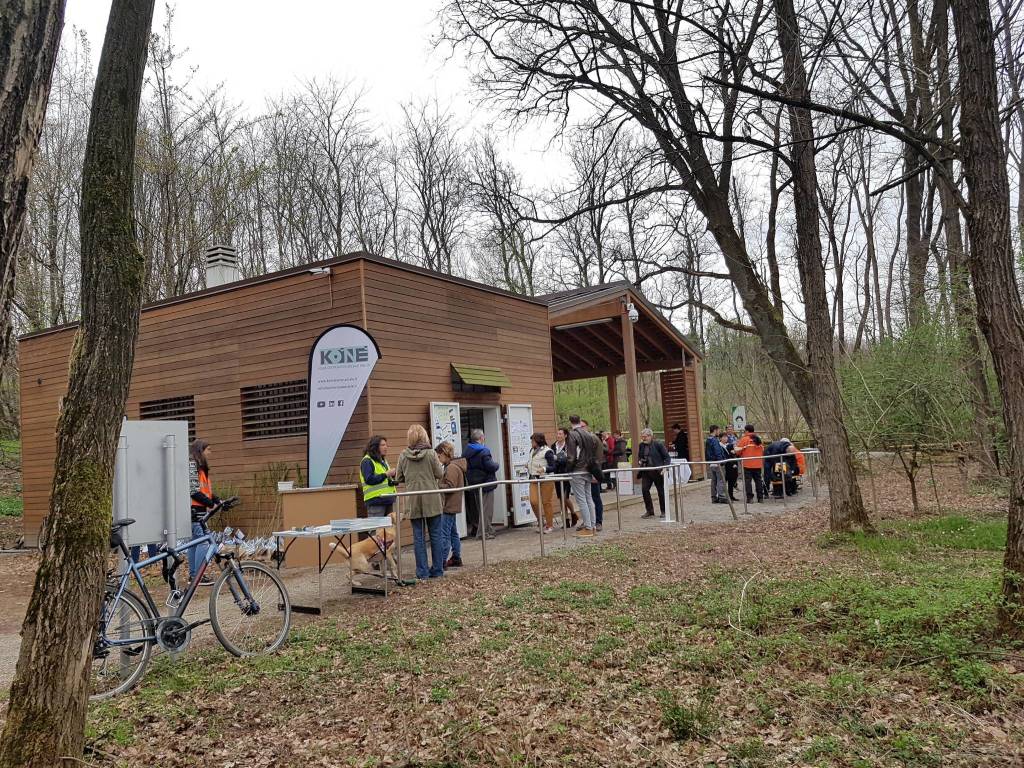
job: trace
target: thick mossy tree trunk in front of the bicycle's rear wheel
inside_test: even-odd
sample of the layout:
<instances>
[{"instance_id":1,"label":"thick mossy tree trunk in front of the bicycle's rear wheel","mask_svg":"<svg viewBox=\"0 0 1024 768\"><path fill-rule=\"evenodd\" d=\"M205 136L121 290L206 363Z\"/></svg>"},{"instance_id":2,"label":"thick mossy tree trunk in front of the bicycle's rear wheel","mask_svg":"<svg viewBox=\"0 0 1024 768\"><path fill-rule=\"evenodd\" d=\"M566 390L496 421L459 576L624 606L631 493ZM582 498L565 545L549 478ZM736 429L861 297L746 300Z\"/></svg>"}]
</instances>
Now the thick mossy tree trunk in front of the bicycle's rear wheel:
<instances>
[{"instance_id":1,"label":"thick mossy tree trunk in front of the bicycle's rear wheel","mask_svg":"<svg viewBox=\"0 0 1024 768\"><path fill-rule=\"evenodd\" d=\"M45 547L22 628L0 765L82 754L92 640L144 263L132 217L138 104L154 0L114 0L82 170L82 322L57 421Z\"/></svg>"}]
</instances>

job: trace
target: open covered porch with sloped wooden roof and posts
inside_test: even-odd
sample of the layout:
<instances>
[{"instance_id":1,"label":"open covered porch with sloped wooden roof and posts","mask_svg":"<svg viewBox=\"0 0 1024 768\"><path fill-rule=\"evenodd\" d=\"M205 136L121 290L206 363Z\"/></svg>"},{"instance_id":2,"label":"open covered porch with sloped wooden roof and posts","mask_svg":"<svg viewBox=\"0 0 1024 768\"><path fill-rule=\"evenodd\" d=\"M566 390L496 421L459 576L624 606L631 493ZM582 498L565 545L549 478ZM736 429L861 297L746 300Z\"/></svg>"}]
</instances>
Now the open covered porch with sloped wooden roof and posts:
<instances>
[{"instance_id":1,"label":"open covered porch with sloped wooden roof and posts","mask_svg":"<svg viewBox=\"0 0 1024 768\"><path fill-rule=\"evenodd\" d=\"M675 438L672 425L680 424L687 433L690 460L702 460L700 355L695 345L625 281L542 298L549 307L555 381L605 379L611 429L636 440L648 426L640 418L638 374L657 372L666 439ZM618 407L620 377L625 413Z\"/></svg>"}]
</instances>

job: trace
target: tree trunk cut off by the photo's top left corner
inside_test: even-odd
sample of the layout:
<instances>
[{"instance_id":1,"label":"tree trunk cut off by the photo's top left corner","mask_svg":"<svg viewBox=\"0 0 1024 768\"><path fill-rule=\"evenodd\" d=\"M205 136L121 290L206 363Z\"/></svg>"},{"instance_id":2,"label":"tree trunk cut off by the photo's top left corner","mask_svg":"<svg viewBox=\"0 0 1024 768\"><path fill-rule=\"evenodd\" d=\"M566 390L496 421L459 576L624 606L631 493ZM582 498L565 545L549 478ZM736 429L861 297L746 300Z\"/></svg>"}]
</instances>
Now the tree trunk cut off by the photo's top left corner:
<instances>
[{"instance_id":1,"label":"tree trunk cut off by the photo's top left corner","mask_svg":"<svg viewBox=\"0 0 1024 768\"><path fill-rule=\"evenodd\" d=\"M0 368L12 351L14 266L65 0L0 0Z\"/></svg>"}]
</instances>

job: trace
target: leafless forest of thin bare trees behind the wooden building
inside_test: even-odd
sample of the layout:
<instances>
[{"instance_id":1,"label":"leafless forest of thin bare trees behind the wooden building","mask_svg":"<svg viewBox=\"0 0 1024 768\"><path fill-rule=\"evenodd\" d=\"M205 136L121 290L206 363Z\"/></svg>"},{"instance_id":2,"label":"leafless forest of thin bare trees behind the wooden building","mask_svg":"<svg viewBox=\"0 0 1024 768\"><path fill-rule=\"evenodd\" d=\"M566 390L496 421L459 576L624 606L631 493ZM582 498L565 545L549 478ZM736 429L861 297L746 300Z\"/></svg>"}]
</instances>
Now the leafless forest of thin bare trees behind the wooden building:
<instances>
[{"instance_id":1,"label":"leafless forest of thin bare trees behind the wooden building","mask_svg":"<svg viewBox=\"0 0 1024 768\"><path fill-rule=\"evenodd\" d=\"M472 5L455 4L449 20ZM947 11L944 3L898 0L800 8L809 92L837 108L815 115L821 258L841 359L903 338L924 318L956 337L956 365L980 382L979 391L965 394L967 404L997 431L984 345L972 319L962 215L935 166L898 135L916 137L963 187L953 151L957 59ZM691 120L723 215L770 311L803 343L785 108L722 84L773 89L780 59L770 7L719 3L699 16L701 24L684 29L679 41L692 52L681 72L688 81L679 87L693 100ZM998 0L993 24L1000 148L1020 254L1021 3ZM456 26L446 32L442 45L458 39ZM79 200L95 41L68 37L17 254L18 332L74 321L79 311ZM551 151L564 155L570 169L531 186L501 135L467 129L444 104L407 103L399 125L384 125L362 105L372 84L325 73L253 112L227 89L193 85L186 42L176 40L171 14L153 38L147 65L135 194L147 301L201 288L202 254L211 243L234 245L247 276L367 250L522 293L628 280L708 351L713 410L760 401L772 426L800 428L799 409L777 372L760 345L742 338L753 330L749 309L707 213L642 121L624 119L597 98L573 96L579 103L569 110L566 97L563 110L524 94L507 113L509 124L539 130L527 126L530 111L554 114L559 120L544 129L557 128ZM488 67L480 71L484 88ZM509 95L481 91L492 102ZM865 128L844 110L881 128ZM5 368L9 423L14 365Z\"/></svg>"}]
</instances>

